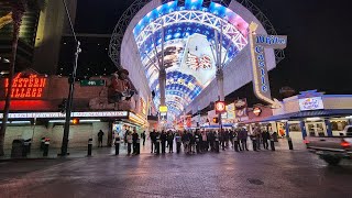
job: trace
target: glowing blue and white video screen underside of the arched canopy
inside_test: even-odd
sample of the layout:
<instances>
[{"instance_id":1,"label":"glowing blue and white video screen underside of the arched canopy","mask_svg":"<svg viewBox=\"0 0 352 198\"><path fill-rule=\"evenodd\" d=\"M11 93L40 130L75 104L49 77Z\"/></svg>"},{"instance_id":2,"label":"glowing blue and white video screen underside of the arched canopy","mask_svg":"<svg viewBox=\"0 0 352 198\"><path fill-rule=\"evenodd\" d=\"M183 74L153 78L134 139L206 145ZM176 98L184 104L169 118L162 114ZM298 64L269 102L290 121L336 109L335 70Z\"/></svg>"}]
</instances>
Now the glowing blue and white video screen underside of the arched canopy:
<instances>
[{"instance_id":1,"label":"glowing blue and white video screen underside of the arched canopy","mask_svg":"<svg viewBox=\"0 0 352 198\"><path fill-rule=\"evenodd\" d=\"M160 106L158 67L164 41L166 105L170 119L215 79L217 35L223 35L222 40L218 38L223 66L248 44L249 24L240 15L215 2L208 8L202 4L202 0L186 0L179 7L177 1L170 1L152 10L133 30L148 86L156 94L156 107Z\"/></svg>"}]
</instances>

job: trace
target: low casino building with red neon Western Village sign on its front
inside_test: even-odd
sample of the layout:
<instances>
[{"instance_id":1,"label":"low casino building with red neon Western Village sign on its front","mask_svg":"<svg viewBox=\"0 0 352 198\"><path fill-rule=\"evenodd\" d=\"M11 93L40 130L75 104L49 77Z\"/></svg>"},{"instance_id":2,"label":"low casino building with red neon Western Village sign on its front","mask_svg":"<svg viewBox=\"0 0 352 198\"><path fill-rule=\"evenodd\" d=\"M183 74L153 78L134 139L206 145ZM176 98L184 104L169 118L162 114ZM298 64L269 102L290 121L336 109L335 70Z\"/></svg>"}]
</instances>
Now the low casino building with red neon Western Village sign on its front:
<instances>
[{"instance_id":1,"label":"low casino building with red neon Western Village sign on its front","mask_svg":"<svg viewBox=\"0 0 352 198\"><path fill-rule=\"evenodd\" d=\"M38 146L42 138L51 146L59 147L63 139L65 113L63 101L68 96L67 77L41 75L32 69L16 74L13 80L12 101L6 133L6 148L14 139L32 139ZM69 146L87 146L88 139L97 144L97 133L105 132L103 145L111 145L114 133L148 128L147 101L135 95L129 103L109 103L110 78L91 78L75 84L73 120ZM4 107L7 78L0 78L0 109ZM2 118L2 113L0 113Z\"/></svg>"}]
</instances>

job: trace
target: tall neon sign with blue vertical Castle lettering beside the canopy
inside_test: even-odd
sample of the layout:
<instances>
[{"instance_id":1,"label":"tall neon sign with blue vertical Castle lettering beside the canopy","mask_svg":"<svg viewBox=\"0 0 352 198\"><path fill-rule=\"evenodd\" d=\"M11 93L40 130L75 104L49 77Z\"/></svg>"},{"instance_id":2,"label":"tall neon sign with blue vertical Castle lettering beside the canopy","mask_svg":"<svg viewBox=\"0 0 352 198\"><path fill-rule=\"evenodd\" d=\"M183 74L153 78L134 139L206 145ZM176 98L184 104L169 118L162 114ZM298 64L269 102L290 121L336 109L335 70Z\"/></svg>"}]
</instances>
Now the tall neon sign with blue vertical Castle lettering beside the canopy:
<instances>
[{"instance_id":1,"label":"tall neon sign with blue vertical Castle lettering beside the canopy","mask_svg":"<svg viewBox=\"0 0 352 198\"><path fill-rule=\"evenodd\" d=\"M272 99L268 73L265 61L264 48L285 48L287 36L282 35L256 35L257 24L250 24L250 44L253 67L253 90L255 96L271 105L274 105Z\"/></svg>"}]
</instances>

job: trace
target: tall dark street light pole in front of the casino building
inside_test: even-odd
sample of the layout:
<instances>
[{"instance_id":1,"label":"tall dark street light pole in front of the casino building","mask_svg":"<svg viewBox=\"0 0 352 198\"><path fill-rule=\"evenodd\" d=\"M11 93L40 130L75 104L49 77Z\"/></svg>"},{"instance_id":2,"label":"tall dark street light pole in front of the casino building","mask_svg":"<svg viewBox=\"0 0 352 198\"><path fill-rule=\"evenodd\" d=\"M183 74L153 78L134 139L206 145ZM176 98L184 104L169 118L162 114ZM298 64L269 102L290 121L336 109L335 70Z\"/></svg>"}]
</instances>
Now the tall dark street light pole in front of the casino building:
<instances>
[{"instance_id":1,"label":"tall dark street light pole in front of the casino building","mask_svg":"<svg viewBox=\"0 0 352 198\"><path fill-rule=\"evenodd\" d=\"M73 35L74 35L74 38L76 42L74 69L73 69L72 75L68 77L69 91L68 91L67 106L66 106L66 118L65 118L64 135L63 135L63 143L62 143L62 153L59 154L61 156L66 156L67 155L67 147L68 147L70 113L72 113L73 99L74 99L74 92L75 92L75 81L76 81L76 74L77 74L78 56L79 56L79 53L81 52L81 50L80 50L80 42L77 40L72 19L69 16L66 1L63 0L63 3L64 3L66 15L67 15L67 19L68 19L68 22L70 25L70 30L73 32Z\"/></svg>"}]
</instances>

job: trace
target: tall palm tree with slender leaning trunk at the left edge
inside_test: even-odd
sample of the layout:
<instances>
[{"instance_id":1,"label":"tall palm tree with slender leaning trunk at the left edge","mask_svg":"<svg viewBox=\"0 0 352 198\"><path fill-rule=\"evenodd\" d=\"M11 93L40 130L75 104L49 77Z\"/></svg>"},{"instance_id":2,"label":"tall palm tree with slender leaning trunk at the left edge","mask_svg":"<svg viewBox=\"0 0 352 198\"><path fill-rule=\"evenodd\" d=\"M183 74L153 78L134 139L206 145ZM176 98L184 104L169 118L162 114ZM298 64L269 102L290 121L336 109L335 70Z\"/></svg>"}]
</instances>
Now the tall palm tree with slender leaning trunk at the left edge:
<instances>
[{"instance_id":1,"label":"tall palm tree with slender leaning trunk at the left edge","mask_svg":"<svg viewBox=\"0 0 352 198\"><path fill-rule=\"evenodd\" d=\"M0 156L4 155L4 152L3 152L4 134L7 131L7 122L9 119L10 102L11 102L10 92L12 92L15 56L18 51L22 18L26 10L43 10L45 6L45 0L10 0L9 3L11 4L11 10L12 10L13 38L12 38L11 64L10 64L10 72L9 72L9 87L8 87L6 105L3 109L3 118L1 123L1 131L0 131Z\"/></svg>"}]
</instances>

